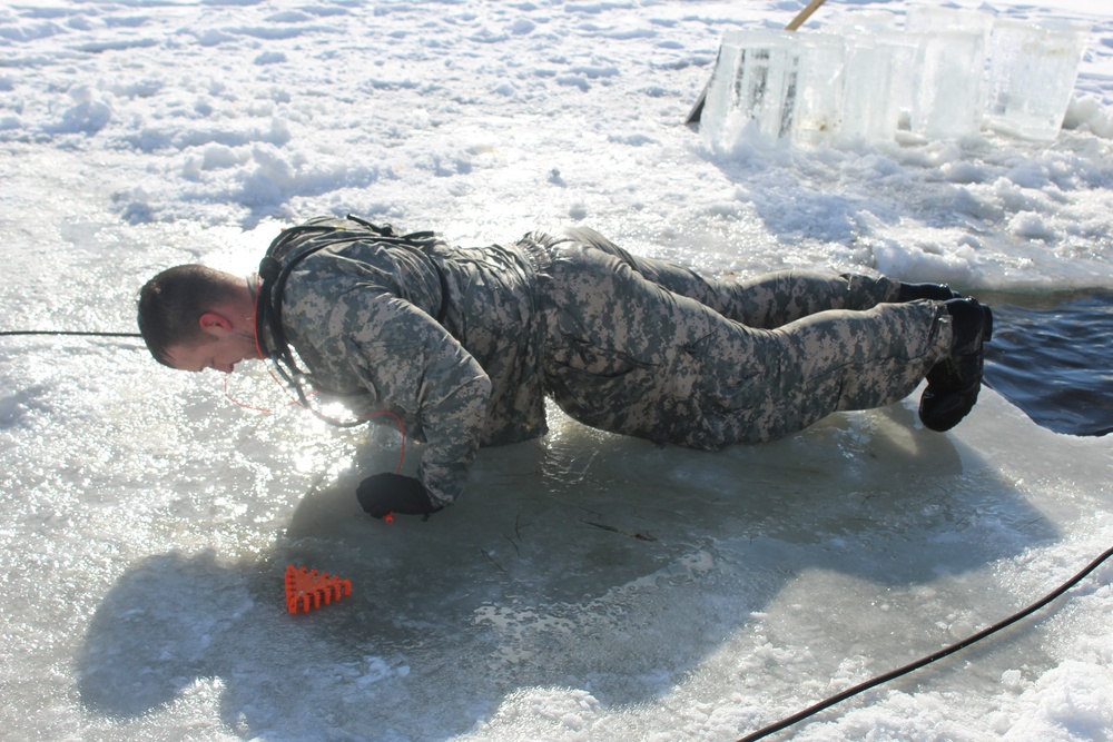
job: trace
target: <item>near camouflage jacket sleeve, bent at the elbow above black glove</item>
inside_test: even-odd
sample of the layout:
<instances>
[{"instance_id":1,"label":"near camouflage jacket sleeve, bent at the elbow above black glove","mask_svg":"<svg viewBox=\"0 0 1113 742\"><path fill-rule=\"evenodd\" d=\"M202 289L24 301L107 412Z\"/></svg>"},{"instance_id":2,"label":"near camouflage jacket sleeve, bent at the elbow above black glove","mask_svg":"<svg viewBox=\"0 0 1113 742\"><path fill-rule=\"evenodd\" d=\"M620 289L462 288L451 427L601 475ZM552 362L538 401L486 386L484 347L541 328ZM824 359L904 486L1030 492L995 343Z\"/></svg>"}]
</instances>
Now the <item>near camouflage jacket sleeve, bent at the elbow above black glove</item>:
<instances>
[{"instance_id":1,"label":"near camouflage jacket sleeve, bent at the elbow above black glove","mask_svg":"<svg viewBox=\"0 0 1113 742\"><path fill-rule=\"evenodd\" d=\"M398 297L351 290L336 297L328 318L332 354L381 404L415 417L426 449L418 478L436 504L464 488L479 447L491 379L435 319Z\"/></svg>"}]
</instances>

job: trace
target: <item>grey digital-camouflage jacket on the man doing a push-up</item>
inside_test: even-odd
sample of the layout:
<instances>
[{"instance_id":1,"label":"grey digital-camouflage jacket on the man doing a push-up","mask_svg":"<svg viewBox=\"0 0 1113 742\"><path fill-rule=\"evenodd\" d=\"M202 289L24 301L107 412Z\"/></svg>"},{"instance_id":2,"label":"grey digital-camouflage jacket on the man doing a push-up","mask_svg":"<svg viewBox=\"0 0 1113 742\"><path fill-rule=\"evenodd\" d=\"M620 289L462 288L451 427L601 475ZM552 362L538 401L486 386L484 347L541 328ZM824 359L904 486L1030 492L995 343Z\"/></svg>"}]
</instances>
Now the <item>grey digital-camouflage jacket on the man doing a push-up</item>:
<instances>
[{"instance_id":1,"label":"grey digital-camouflage jacket on the man doing a push-up","mask_svg":"<svg viewBox=\"0 0 1113 742\"><path fill-rule=\"evenodd\" d=\"M480 445L545 433L530 259L540 248L406 244L349 219L306 224L335 229L290 240L285 253L328 243L286 280L286 338L318 390L352 395L356 414L388 410L427 444L418 477L439 503L463 489Z\"/></svg>"}]
</instances>

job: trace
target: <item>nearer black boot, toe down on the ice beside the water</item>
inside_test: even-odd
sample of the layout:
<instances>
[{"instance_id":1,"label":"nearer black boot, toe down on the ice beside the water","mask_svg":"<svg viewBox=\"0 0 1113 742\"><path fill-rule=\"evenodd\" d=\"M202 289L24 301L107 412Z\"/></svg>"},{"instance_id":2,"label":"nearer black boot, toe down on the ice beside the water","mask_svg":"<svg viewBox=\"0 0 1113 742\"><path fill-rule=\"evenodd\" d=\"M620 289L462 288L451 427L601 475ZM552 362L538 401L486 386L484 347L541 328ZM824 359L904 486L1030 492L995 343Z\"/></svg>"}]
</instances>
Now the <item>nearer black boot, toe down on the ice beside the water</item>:
<instances>
[{"instance_id":1,"label":"nearer black boot, toe down on the ice beside the water","mask_svg":"<svg viewBox=\"0 0 1113 742\"><path fill-rule=\"evenodd\" d=\"M982 346L993 337L989 307L975 299L952 299L945 306L954 332L951 357L927 373L927 389L919 399L919 419L939 433L958 425L977 402L985 357Z\"/></svg>"}]
</instances>

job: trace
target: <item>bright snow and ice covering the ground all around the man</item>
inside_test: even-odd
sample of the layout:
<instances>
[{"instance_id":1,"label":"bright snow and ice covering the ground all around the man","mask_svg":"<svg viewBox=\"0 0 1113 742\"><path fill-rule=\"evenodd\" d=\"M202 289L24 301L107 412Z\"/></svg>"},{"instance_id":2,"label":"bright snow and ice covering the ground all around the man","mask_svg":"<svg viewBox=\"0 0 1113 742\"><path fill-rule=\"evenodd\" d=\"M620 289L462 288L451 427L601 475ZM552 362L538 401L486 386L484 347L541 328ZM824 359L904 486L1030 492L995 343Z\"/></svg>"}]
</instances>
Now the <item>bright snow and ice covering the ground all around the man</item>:
<instances>
[{"instance_id":1,"label":"bright snow and ice covering the ground all around the man","mask_svg":"<svg viewBox=\"0 0 1113 742\"><path fill-rule=\"evenodd\" d=\"M682 120L722 33L804 4L0 2L0 329L130 330L157 270L250 270L321 212L460 244L587 224L739 275L1113 287L1104 3L951 3L1092 23L1054 142L712 150ZM913 4L828 0L802 32ZM1110 441L988 389L946 435L914 396L715 455L553 412L451 511L385 525L353 489L395 433L328 428L258 365L228 390L272 415L221 383L127 338L0 338L12 739L735 740L1027 605L1113 533ZM290 616L288 563L353 595ZM1111 576L794 739L1107 739Z\"/></svg>"}]
</instances>

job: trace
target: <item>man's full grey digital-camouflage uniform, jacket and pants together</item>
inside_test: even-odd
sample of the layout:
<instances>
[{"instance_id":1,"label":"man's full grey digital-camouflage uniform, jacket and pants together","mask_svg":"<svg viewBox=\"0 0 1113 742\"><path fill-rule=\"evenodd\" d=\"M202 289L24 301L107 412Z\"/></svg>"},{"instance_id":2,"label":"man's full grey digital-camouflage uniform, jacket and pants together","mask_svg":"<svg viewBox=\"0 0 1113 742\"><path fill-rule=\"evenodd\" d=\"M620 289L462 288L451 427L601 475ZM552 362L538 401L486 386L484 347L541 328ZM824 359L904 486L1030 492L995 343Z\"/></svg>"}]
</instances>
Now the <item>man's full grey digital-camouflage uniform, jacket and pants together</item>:
<instances>
[{"instance_id":1,"label":"man's full grey digital-camouflage uniform, jacket and pants together","mask_svg":"<svg viewBox=\"0 0 1113 742\"><path fill-rule=\"evenodd\" d=\"M461 249L323 224L341 231L290 274L287 337L318 388L426 442L439 504L477 446L545 432L545 394L587 425L715 449L900 399L949 354L943 305L887 304L884 277L715 280L589 229Z\"/></svg>"}]
</instances>

